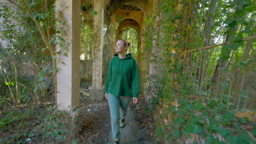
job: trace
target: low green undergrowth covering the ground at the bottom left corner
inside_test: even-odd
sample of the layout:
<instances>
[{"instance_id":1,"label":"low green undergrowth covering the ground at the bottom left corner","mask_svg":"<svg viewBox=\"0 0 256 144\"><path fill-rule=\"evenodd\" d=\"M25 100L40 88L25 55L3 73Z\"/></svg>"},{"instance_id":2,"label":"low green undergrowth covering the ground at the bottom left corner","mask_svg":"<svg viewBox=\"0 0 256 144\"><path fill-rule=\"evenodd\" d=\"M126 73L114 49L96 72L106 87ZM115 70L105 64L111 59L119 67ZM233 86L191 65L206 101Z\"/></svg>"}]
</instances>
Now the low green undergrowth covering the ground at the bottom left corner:
<instances>
[{"instance_id":1,"label":"low green undergrowth covering the ground at the bottom left corner","mask_svg":"<svg viewBox=\"0 0 256 144\"><path fill-rule=\"evenodd\" d=\"M56 106L46 104L22 109L9 107L1 112L5 116L0 119L0 133L6 129L11 133L8 139L0 139L0 143L79 142L77 137L72 137L73 129L78 127L78 117L71 117L70 113L59 111Z\"/></svg>"}]
</instances>

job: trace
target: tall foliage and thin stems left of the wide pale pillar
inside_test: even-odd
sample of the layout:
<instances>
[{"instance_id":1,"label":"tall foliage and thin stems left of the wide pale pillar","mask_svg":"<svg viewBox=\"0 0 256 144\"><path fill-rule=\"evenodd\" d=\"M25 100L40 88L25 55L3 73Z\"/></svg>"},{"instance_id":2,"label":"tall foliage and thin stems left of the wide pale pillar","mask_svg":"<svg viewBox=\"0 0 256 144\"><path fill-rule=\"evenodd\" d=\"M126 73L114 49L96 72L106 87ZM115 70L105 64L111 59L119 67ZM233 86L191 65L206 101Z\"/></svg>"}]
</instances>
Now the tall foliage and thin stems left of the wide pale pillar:
<instances>
[{"instance_id":1,"label":"tall foliage and thin stems left of the wide pale pillar","mask_svg":"<svg viewBox=\"0 0 256 144\"><path fill-rule=\"evenodd\" d=\"M53 4L48 4L46 10L45 4L47 3L44 1L31 1L29 6L34 19L39 21L46 31L54 27L55 9ZM20 7L24 5L20 3ZM37 10L33 11L34 9ZM38 27L26 11L14 9L10 3L0 4L0 17L3 18L0 38L7 41L7 45L0 50L0 78L3 80L1 82L13 82L4 87L5 95L1 100L11 104L27 103L30 100L40 103L39 101L48 99L53 92L49 88L53 81L49 81L49 78L53 77L54 68L51 57L44 54L47 47L40 37ZM51 43L55 43L55 37L51 38ZM31 73L34 74L32 78Z\"/></svg>"}]
</instances>

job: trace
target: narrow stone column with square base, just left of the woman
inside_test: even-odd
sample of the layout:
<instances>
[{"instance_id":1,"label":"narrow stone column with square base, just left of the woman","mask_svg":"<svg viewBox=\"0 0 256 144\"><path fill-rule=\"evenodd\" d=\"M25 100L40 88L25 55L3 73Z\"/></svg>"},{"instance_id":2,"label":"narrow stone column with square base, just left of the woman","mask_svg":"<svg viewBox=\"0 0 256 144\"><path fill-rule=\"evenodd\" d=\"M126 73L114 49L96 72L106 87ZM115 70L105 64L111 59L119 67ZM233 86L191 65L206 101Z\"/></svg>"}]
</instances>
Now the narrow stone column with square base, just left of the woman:
<instances>
[{"instance_id":1,"label":"narrow stone column with square base, just left of the woman","mask_svg":"<svg viewBox=\"0 0 256 144\"><path fill-rule=\"evenodd\" d=\"M92 62L92 87L90 89L91 100L102 100L105 87L102 86L102 55L103 55L103 24L104 24L104 0L94 0L94 61Z\"/></svg>"}]
</instances>

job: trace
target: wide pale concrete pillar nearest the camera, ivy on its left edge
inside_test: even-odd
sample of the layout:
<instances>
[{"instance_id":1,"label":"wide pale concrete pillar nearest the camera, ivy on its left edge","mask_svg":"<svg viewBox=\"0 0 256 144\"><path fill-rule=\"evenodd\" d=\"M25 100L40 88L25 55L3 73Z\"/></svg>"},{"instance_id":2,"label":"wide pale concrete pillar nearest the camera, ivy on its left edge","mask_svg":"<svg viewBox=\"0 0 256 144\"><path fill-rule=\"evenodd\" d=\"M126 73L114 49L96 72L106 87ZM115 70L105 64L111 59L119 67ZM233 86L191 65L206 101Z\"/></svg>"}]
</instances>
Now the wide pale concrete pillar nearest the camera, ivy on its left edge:
<instances>
[{"instance_id":1,"label":"wide pale concrete pillar nearest the camera, ivy on its left edge","mask_svg":"<svg viewBox=\"0 0 256 144\"><path fill-rule=\"evenodd\" d=\"M80 1L56 0L56 18L57 105L70 111L79 105Z\"/></svg>"}]
</instances>

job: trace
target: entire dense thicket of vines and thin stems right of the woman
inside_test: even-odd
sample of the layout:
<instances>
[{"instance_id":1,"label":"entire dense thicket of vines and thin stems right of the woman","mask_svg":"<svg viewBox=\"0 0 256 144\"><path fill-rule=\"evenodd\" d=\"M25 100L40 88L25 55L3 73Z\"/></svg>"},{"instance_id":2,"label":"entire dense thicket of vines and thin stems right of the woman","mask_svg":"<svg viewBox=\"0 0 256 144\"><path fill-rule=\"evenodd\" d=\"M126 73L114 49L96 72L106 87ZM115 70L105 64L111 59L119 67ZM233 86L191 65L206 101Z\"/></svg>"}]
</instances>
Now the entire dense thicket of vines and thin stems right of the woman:
<instances>
[{"instance_id":1,"label":"entire dense thicket of vines and thin stems right of the woman","mask_svg":"<svg viewBox=\"0 0 256 144\"><path fill-rule=\"evenodd\" d=\"M213 4L218 8L214 9ZM151 99L156 115L156 142L255 142L255 125L252 123L255 113L245 109L246 99L254 96L249 95L248 86L242 85L244 81L249 82L248 77L255 83L253 72L249 72L254 67L255 50L251 41L241 41L255 34L252 5L252 1L166 0L159 3L162 19L159 33L162 35L158 49L165 51L166 61L162 64L165 68L164 73L160 73L162 79L153 82L158 89L157 97ZM153 15L147 21L155 17ZM216 21L209 21L211 19ZM144 33L147 49L152 49L154 35L149 33L150 28L154 29L150 24L147 23L148 29ZM207 33L211 37L206 36ZM229 41L231 44L222 47L185 53ZM246 48L247 52L242 51ZM218 69L220 67L222 69Z\"/></svg>"}]
</instances>

